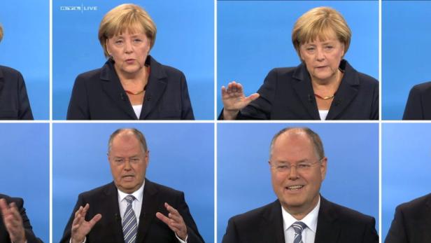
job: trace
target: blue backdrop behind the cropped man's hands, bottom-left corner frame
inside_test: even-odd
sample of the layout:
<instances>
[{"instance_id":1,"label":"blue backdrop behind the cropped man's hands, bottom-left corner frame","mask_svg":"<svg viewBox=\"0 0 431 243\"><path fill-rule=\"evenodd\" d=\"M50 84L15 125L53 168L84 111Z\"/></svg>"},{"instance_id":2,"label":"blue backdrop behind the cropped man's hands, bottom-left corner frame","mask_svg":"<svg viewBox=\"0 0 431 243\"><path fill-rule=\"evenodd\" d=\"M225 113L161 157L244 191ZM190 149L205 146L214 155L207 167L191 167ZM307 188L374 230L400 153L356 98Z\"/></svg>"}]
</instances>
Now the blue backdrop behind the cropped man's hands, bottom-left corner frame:
<instances>
[{"instance_id":1,"label":"blue backdrop behind the cropped man's hands, bottom-left corner frame","mask_svg":"<svg viewBox=\"0 0 431 243\"><path fill-rule=\"evenodd\" d=\"M22 197L34 234L43 242L50 239L49 131L43 123L0 124L0 193Z\"/></svg>"}]
</instances>

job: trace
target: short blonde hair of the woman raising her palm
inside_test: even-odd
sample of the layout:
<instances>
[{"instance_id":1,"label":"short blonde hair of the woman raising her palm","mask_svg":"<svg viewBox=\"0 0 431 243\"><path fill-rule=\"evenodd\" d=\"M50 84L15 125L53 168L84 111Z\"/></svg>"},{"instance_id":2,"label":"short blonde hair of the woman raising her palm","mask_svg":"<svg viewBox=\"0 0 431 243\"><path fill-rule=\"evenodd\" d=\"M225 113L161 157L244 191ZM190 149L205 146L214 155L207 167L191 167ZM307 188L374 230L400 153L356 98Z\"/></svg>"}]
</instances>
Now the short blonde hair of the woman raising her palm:
<instances>
[{"instance_id":1,"label":"short blonde hair of the woman raising her palm","mask_svg":"<svg viewBox=\"0 0 431 243\"><path fill-rule=\"evenodd\" d=\"M341 13L330 7L313 8L295 22L292 30L292 43L299 55L299 48L302 44L316 39L325 40L331 32L334 32L337 39L344 43L344 54L346 54L352 32Z\"/></svg>"}]
</instances>

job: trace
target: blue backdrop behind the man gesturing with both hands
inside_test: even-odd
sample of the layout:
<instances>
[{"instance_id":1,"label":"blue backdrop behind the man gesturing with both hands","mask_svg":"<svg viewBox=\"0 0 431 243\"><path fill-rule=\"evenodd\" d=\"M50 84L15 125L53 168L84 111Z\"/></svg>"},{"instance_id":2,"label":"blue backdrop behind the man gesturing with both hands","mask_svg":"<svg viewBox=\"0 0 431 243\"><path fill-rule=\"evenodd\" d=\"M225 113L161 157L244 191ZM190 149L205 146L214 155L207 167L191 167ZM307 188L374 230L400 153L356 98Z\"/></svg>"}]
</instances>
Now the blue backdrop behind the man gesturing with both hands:
<instances>
[{"instance_id":1,"label":"blue backdrop behind the man gesturing with both hands","mask_svg":"<svg viewBox=\"0 0 431 243\"><path fill-rule=\"evenodd\" d=\"M108 138L121 127L143 132L150 151L146 177L182 190L199 232L205 242L213 242L214 125L209 123L54 124L53 242L62 237L78 194L113 181L106 155Z\"/></svg>"}]
</instances>

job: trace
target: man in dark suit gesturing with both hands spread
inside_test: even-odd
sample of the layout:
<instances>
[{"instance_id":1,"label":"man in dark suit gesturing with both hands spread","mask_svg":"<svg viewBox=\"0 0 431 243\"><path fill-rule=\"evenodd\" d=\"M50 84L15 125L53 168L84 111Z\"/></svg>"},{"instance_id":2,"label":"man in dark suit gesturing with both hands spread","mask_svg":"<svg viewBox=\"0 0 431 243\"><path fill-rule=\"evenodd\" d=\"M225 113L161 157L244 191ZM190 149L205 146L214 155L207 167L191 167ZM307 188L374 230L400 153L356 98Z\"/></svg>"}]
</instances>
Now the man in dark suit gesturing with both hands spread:
<instances>
[{"instance_id":1,"label":"man in dark suit gesturing with both hands spread","mask_svg":"<svg viewBox=\"0 0 431 243\"><path fill-rule=\"evenodd\" d=\"M60 242L204 242L184 194L146 179L143 134L119 129L108 144L113 183L78 196Z\"/></svg>"}]
</instances>

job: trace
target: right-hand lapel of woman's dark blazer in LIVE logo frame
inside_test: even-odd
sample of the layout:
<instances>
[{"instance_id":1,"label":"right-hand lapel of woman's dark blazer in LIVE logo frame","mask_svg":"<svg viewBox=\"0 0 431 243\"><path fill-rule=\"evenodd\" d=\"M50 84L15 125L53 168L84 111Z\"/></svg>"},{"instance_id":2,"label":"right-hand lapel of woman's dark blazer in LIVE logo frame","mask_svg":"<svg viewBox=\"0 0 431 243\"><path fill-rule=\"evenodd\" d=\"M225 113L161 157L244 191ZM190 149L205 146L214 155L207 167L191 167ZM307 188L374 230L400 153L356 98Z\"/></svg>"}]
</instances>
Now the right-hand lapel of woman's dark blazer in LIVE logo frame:
<instances>
[{"instance_id":1,"label":"right-hand lapel of woman's dark blazer in LIVE logo frame","mask_svg":"<svg viewBox=\"0 0 431 243\"><path fill-rule=\"evenodd\" d=\"M144 102L140 120L146 119L148 114L157 107L157 102L162 97L167 86L167 74L162 65L150 55L147 57L146 63L150 65L151 72L148 78L146 94L143 97Z\"/></svg>"}]
</instances>

